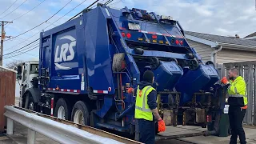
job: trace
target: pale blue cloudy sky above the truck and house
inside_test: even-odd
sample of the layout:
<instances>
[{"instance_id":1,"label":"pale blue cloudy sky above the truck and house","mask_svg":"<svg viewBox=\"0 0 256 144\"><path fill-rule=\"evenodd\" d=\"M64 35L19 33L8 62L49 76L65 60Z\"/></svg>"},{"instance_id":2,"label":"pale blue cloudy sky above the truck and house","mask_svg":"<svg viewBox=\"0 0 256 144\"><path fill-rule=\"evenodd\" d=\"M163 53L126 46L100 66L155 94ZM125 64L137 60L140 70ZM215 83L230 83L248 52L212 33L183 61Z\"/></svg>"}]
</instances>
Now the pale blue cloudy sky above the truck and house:
<instances>
[{"instance_id":1,"label":"pale blue cloudy sky above the truck and house","mask_svg":"<svg viewBox=\"0 0 256 144\"><path fill-rule=\"evenodd\" d=\"M21 18L14 20L13 23L5 26L6 36L15 37L44 22L34 30L4 42L4 65L14 60L27 61L38 59L38 49L12 58L8 58L12 55L8 53L33 42L39 38L40 31L49 30L54 26L66 22L69 18L72 18L75 14L78 14L86 6L94 2L94 0L86 0L81 6L78 6L83 1L0 0L0 21L12 21L25 14ZM66 5L68 2L70 3ZM13 6L11 6L12 4ZM64 9L53 18L50 18L65 5L66 7ZM34 8L35 6L37 7ZM75 6L78 7L69 14L66 14ZM138 8L150 12L154 11L159 15L171 16L174 20L180 22L184 30L199 33L223 36L234 36L238 34L240 38L244 38L246 35L256 31L256 0L114 0L110 3L110 6L115 8L127 6L130 9ZM6 10L8 7L10 9ZM34 10L31 10L33 8ZM30 12L28 13L28 11ZM66 16L63 17L64 14ZM50 20L45 22L48 18ZM58 20L58 18L61 19ZM56 20L58 21L55 22ZM46 28L46 26L49 27ZM36 43L34 43L34 46L36 46ZM33 48L33 45L31 48Z\"/></svg>"}]
</instances>

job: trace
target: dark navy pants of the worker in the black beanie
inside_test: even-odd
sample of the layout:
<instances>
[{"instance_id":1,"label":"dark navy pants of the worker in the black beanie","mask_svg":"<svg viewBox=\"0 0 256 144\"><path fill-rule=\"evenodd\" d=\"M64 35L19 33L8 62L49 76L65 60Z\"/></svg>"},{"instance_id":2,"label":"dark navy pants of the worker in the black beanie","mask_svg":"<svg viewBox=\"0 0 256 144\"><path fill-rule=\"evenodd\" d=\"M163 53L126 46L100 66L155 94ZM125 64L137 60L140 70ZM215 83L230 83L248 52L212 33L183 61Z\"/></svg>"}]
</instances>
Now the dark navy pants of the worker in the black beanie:
<instances>
[{"instance_id":1,"label":"dark navy pants of the worker in the black beanie","mask_svg":"<svg viewBox=\"0 0 256 144\"><path fill-rule=\"evenodd\" d=\"M136 119L135 122L135 140L146 144L154 144L155 127L154 121L145 119Z\"/></svg>"}]
</instances>

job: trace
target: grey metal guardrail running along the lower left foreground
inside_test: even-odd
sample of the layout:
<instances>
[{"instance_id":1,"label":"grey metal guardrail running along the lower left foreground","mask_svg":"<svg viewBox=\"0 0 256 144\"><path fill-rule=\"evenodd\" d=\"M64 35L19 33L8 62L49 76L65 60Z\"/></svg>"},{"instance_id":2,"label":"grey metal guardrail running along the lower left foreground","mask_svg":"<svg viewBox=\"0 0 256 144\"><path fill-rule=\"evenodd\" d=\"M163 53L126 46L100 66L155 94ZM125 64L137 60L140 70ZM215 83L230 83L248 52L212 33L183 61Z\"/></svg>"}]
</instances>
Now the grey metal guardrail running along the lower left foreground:
<instances>
[{"instance_id":1,"label":"grey metal guardrail running along the lower left foreground","mask_svg":"<svg viewBox=\"0 0 256 144\"><path fill-rule=\"evenodd\" d=\"M15 106L5 106L7 117L7 134L14 134L14 121L28 128L27 143L35 143L35 134L45 135L60 143L139 143L128 138L122 138L114 134L94 129L90 126L76 125L73 122L60 120L53 117L38 114L29 110L21 110ZM39 116L41 115L41 116ZM47 118L49 117L49 118ZM71 123L73 125L71 125ZM78 127L76 127L78 126ZM87 131L86 131L87 130ZM89 132L88 132L89 131Z\"/></svg>"}]
</instances>

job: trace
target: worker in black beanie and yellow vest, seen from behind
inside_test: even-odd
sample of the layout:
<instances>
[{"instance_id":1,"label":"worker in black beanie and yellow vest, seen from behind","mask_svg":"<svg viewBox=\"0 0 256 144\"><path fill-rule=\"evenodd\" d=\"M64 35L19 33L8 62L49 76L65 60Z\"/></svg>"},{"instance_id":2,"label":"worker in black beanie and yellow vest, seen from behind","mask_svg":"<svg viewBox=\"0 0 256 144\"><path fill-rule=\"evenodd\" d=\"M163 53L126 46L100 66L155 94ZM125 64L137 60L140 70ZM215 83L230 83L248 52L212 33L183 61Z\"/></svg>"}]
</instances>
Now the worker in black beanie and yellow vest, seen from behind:
<instances>
[{"instance_id":1,"label":"worker in black beanie and yellow vest, seen from behind","mask_svg":"<svg viewBox=\"0 0 256 144\"><path fill-rule=\"evenodd\" d=\"M135 140L146 144L154 143L155 140L155 122L158 122L158 132L165 131L165 122L158 114L157 92L152 86L154 83L154 73L146 70L143 74L143 81L138 84L134 92L136 94L135 102ZM130 93L131 90L128 90Z\"/></svg>"}]
</instances>

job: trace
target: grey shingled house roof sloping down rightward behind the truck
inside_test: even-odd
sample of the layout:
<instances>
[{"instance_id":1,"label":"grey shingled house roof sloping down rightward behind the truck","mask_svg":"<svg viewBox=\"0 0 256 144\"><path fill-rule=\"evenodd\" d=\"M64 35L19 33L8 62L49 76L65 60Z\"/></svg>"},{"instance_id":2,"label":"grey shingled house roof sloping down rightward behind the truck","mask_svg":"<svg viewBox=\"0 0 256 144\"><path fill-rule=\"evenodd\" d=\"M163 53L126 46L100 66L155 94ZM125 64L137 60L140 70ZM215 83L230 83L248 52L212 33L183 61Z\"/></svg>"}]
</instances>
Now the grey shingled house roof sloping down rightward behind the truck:
<instances>
[{"instance_id":1,"label":"grey shingled house roof sloping down rightward behind the truck","mask_svg":"<svg viewBox=\"0 0 256 144\"><path fill-rule=\"evenodd\" d=\"M196 38L202 38L211 42L227 43L242 46L256 46L256 41L245 39L245 38L230 38L214 34L203 34L192 31L185 31L185 34L194 36Z\"/></svg>"}]
</instances>

